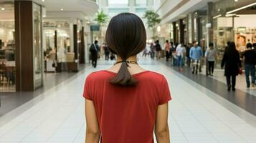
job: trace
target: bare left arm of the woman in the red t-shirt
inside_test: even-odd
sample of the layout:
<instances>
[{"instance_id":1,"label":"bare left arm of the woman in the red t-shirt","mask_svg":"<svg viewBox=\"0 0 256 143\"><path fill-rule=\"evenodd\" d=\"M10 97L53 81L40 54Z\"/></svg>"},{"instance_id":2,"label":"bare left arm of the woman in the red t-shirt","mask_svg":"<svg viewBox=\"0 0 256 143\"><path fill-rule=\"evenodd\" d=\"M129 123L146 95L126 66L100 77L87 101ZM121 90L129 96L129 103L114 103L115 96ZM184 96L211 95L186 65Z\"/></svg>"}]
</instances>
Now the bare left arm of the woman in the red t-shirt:
<instances>
[{"instance_id":1,"label":"bare left arm of the woman in the red t-shirt","mask_svg":"<svg viewBox=\"0 0 256 143\"><path fill-rule=\"evenodd\" d=\"M98 143L100 129L93 101L85 99L86 137L85 143Z\"/></svg>"}]
</instances>

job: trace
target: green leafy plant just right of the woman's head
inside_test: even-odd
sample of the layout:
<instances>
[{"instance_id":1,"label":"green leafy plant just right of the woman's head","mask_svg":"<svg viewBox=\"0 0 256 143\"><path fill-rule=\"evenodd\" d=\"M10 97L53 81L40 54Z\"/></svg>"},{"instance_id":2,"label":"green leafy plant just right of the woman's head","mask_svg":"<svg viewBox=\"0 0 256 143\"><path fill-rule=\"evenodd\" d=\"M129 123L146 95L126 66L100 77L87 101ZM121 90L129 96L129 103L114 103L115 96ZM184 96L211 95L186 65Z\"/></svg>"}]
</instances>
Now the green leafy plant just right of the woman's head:
<instances>
[{"instance_id":1,"label":"green leafy plant just right of the woman's head","mask_svg":"<svg viewBox=\"0 0 256 143\"><path fill-rule=\"evenodd\" d=\"M154 11L146 11L143 18L147 19L148 28L151 28L153 31L153 39L156 39L156 26L160 24L160 16Z\"/></svg>"}]
</instances>

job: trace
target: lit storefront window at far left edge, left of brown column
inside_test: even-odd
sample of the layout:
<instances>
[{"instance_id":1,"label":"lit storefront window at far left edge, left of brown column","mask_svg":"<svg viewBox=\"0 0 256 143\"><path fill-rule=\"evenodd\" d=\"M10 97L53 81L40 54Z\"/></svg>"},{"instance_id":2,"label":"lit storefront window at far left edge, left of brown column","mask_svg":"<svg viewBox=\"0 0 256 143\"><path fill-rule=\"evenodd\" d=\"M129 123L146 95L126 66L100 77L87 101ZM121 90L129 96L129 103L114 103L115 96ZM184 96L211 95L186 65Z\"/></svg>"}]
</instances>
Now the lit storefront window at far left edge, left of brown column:
<instances>
[{"instance_id":1,"label":"lit storefront window at far left edge, left of brown column","mask_svg":"<svg viewBox=\"0 0 256 143\"><path fill-rule=\"evenodd\" d=\"M0 3L0 92L15 92L14 4Z\"/></svg>"}]
</instances>

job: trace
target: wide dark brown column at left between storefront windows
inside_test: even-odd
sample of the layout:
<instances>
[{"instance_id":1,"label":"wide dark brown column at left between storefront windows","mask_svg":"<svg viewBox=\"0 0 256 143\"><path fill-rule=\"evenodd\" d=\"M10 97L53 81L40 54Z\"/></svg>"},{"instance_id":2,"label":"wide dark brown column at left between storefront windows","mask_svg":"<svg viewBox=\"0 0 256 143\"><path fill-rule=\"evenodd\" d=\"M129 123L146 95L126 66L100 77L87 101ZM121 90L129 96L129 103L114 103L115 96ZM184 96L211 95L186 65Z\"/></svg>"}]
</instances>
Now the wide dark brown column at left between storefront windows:
<instances>
[{"instance_id":1,"label":"wide dark brown column at left between storefront windows","mask_svg":"<svg viewBox=\"0 0 256 143\"><path fill-rule=\"evenodd\" d=\"M34 91L34 17L33 1L14 1L16 91ZM42 16L39 16L42 21ZM42 23L40 24L42 26ZM39 27L40 29L42 27ZM40 36L42 41L42 36ZM39 46L42 50L42 45ZM40 59L38 59L40 60ZM38 66L38 65L37 65ZM39 65L40 66L40 65ZM42 65L41 65L42 66ZM41 71L43 72L43 70ZM42 86L39 85L39 86Z\"/></svg>"}]
</instances>

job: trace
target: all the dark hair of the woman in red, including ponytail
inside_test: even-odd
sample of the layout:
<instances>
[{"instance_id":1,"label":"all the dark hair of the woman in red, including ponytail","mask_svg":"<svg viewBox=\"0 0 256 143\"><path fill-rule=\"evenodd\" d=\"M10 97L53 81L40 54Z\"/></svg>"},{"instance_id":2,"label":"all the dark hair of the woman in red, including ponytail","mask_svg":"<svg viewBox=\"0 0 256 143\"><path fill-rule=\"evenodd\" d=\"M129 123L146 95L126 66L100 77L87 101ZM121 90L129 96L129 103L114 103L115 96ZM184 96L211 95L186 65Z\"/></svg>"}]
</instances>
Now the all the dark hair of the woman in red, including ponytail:
<instances>
[{"instance_id":1,"label":"all the dark hair of the woman in red, including ponytail","mask_svg":"<svg viewBox=\"0 0 256 143\"><path fill-rule=\"evenodd\" d=\"M146 29L143 21L131 13L114 16L108 25L105 41L123 61L118 74L110 79L110 82L121 86L136 85L136 80L128 71L128 64L125 61L146 47Z\"/></svg>"}]
</instances>

